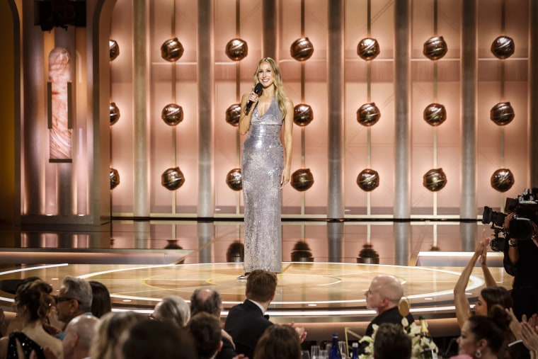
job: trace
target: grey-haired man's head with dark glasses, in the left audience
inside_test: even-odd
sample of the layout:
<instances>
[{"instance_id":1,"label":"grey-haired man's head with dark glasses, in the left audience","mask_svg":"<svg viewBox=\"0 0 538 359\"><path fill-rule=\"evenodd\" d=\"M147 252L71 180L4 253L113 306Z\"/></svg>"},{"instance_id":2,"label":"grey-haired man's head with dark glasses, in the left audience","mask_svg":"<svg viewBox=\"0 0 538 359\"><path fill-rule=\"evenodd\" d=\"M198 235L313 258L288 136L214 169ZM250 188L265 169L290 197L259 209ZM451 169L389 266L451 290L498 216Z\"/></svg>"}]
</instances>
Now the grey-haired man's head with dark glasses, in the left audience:
<instances>
[{"instance_id":1,"label":"grey-haired man's head with dark glasses, in the left audience","mask_svg":"<svg viewBox=\"0 0 538 359\"><path fill-rule=\"evenodd\" d=\"M81 314L91 313L91 286L84 278L67 276L62 280L58 295L55 298L58 320L68 324L71 319ZM65 331L60 331L56 337L64 339Z\"/></svg>"}]
</instances>

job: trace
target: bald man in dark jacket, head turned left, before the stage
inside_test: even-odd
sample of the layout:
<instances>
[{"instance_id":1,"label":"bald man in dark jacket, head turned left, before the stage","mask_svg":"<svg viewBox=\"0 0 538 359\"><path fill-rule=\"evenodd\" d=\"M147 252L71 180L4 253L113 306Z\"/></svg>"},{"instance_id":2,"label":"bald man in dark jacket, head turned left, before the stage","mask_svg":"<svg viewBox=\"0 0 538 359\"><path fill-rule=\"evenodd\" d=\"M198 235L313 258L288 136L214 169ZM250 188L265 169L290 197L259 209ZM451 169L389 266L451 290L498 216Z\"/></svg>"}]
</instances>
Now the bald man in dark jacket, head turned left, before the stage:
<instances>
[{"instance_id":1,"label":"bald man in dark jacket, head turned left, before the stage","mask_svg":"<svg viewBox=\"0 0 538 359\"><path fill-rule=\"evenodd\" d=\"M379 274L372 279L370 288L365 292L366 307L374 309L377 317L370 321L366 328L366 336L374 334L374 324L393 323L401 326L401 316L398 304L404 297L404 287L400 281L392 275ZM411 314L406 315L407 321L414 321ZM364 353L366 342L362 342L359 347L360 353Z\"/></svg>"}]
</instances>

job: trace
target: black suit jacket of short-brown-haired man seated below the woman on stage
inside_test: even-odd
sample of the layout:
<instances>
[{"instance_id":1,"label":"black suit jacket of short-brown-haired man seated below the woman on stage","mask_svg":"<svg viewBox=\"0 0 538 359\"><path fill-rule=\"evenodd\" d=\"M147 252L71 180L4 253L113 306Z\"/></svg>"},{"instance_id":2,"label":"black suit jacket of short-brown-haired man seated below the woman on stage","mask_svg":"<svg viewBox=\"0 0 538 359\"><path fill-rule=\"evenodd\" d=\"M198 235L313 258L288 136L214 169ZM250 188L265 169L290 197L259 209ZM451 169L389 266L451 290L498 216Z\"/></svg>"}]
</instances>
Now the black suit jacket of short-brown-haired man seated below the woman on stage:
<instances>
[{"instance_id":1,"label":"black suit jacket of short-brown-haired man seated below the woman on stage","mask_svg":"<svg viewBox=\"0 0 538 359\"><path fill-rule=\"evenodd\" d=\"M245 300L231 307L224 322L224 330L234 339L236 353L254 358L254 347L265 329L273 325L255 303Z\"/></svg>"}]
</instances>

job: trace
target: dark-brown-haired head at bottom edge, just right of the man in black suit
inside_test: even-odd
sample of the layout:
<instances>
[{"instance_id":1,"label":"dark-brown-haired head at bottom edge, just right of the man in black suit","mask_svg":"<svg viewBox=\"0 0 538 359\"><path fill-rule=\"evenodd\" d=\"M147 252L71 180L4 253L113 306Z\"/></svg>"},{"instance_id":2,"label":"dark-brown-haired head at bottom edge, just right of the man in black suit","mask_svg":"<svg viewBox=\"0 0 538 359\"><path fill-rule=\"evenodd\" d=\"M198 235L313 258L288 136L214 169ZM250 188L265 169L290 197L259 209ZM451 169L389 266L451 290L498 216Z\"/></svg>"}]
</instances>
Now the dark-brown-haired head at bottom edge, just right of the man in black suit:
<instances>
[{"instance_id":1,"label":"dark-brown-haired head at bottom edge, just right of the man in black suit","mask_svg":"<svg viewBox=\"0 0 538 359\"><path fill-rule=\"evenodd\" d=\"M301 359L299 334L287 324L268 326L254 348L253 359Z\"/></svg>"}]
</instances>

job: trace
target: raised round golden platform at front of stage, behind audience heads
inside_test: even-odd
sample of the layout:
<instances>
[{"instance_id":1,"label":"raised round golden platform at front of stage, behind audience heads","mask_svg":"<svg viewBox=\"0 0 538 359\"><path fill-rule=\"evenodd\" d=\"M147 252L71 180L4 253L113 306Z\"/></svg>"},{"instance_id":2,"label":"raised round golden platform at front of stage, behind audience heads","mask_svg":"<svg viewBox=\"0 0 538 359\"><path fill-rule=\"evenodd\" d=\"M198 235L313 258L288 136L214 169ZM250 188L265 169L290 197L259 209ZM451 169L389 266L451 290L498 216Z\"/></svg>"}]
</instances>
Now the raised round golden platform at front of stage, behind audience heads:
<instances>
[{"instance_id":1,"label":"raised round golden platform at front of stage, behind audience heads","mask_svg":"<svg viewBox=\"0 0 538 359\"><path fill-rule=\"evenodd\" d=\"M429 318L454 317L453 293L462 268L382 266L355 263L283 263L278 275L275 300L268 314L275 321L353 322L367 321L374 312L366 309L364 292L377 274L395 275L404 285L413 314ZM502 268L491 268L503 283L509 276ZM476 270L475 270L476 272ZM198 287L218 290L223 299L223 317L228 309L243 302L246 280L238 280L242 263L200 263L164 265L67 264L35 265L0 272L2 304L9 306L8 292L21 278L38 276L59 290L62 278L75 275L98 280L108 287L115 310L151 312L166 295L188 300ZM501 278L502 277L502 278ZM503 283L509 285L509 283ZM474 273L467 291L473 302L483 286L480 273Z\"/></svg>"}]
</instances>

